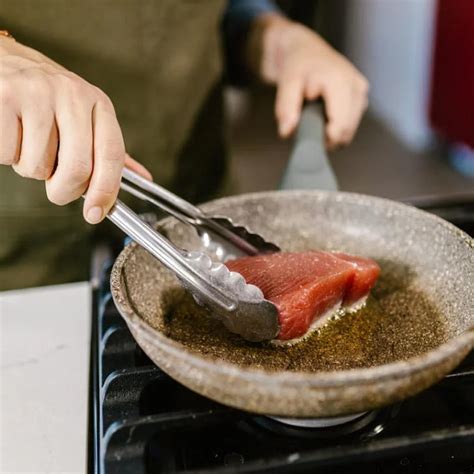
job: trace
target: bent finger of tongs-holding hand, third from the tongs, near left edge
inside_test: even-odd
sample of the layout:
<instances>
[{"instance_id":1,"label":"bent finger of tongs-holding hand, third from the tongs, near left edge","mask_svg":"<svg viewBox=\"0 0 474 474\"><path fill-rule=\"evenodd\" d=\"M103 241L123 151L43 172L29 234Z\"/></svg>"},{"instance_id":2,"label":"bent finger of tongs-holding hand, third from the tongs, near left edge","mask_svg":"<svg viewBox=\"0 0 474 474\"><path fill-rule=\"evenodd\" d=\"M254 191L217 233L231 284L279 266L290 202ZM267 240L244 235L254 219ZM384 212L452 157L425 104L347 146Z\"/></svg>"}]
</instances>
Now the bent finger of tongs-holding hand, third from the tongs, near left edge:
<instances>
[{"instance_id":1,"label":"bent finger of tongs-holding hand, third from the tongs, near left edge","mask_svg":"<svg viewBox=\"0 0 474 474\"><path fill-rule=\"evenodd\" d=\"M18 128L15 121L10 124L15 125ZM25 178L46 180L53 172L58 147L54 114L47 108L26 109L21 127L20 154L12 163L13 169Z\"/></svg>"}]
</instances>

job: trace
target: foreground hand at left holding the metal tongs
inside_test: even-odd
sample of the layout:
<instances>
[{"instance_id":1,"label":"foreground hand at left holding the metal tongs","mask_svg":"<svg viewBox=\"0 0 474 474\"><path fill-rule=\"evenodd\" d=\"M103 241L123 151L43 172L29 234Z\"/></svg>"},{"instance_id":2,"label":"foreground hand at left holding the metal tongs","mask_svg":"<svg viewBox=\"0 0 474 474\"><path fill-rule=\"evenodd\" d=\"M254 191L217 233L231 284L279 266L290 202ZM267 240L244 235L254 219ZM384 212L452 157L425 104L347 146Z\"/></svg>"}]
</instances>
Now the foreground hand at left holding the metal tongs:
<instances>
[{"instance_id":1,"label":"foreground hand at left holding the metal tongs","mask_svg":"<svg viewBox=\"0 0 474 474\"><path fill-rule=\"evenodd\" d=\"M87 191L84 218L100 222L119 191L125 153L112 102L104 92L41 53L0 39L0 164L46 182L48 199L65 205Z\"/></svg>"}]
</instances>

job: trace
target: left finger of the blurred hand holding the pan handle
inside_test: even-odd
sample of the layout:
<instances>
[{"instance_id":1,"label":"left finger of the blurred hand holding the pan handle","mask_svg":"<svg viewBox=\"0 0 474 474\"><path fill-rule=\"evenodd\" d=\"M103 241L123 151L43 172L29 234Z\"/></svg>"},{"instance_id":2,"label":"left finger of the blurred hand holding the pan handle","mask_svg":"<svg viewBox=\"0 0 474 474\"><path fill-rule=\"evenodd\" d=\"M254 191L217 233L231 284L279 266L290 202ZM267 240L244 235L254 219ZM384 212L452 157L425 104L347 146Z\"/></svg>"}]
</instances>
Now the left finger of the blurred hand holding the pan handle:
<instances>
[{"instance_id":1,"label":"left finger of the blurred hand holding the pan handle","mask_svg":"<svg viewBox=\"0 0 474 474\"><path fill-rule=\"evenodd\" d=\"M295 129L301 115L304 100L304 78L301 74L282 77L278 83L275 115L278 122L278 133L288 137Z\"/></svg>"}]
</instances>

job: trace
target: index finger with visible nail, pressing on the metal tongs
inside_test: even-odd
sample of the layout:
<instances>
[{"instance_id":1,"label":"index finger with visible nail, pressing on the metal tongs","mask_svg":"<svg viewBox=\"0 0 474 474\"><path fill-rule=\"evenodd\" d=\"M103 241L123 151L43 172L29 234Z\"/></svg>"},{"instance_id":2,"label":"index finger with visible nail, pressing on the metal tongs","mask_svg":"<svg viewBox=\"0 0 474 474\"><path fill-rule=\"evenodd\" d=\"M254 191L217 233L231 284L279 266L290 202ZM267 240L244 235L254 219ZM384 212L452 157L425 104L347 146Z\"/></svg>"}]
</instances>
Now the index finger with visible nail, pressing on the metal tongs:
<instances>
[{"instance_id":1,"label":"index finger with visible nail, pressing on the metal tongs","mask_svg":"<svg viewBox=\"0 0 474 474\"><path fill-rule=\"evenodd\" d=\"M120 126L109 100L96 103L92 113L94 168L84 203L84 218L97 224L117 198L125 161Z\"/></svg>"}]
</instances>

